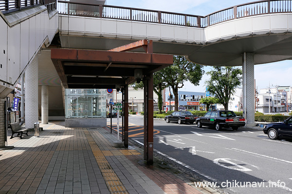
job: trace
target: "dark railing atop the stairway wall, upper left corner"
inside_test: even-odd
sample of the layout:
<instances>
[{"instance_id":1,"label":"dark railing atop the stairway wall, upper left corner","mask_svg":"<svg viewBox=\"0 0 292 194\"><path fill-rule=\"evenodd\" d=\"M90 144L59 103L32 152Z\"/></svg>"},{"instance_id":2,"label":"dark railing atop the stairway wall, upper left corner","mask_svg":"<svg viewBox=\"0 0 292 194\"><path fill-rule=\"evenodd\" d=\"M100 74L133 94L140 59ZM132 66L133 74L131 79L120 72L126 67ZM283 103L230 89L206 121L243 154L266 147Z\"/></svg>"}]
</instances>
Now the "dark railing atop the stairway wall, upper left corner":
<instances>
[{"instance_id":1,"label":"dark railing atop the stairway wall, upper left corner","mask_svg":"<svg viewBox=\"0 0 292 194\"><path fill-rule=\"evenodd\" d=\"M0 0L0 11L9 14L39 5L45 5L51 12L56 9L56 0Z\"/></svg>"}]
</instances>

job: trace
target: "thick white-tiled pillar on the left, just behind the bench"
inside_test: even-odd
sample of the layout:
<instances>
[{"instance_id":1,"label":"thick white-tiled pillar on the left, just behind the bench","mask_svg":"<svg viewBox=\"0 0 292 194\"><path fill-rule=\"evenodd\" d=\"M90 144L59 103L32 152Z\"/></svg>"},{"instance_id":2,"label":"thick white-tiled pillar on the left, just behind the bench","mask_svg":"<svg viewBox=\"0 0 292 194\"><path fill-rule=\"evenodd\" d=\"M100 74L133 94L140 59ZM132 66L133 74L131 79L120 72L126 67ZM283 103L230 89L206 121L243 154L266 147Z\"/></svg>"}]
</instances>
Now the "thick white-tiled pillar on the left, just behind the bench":
<instances>
[{"instance_id":1,"label":"thick white-tiled pillar on the left, just behind the bench","mask_svg":"<svg viewBox=\"0 0 292 194\"><path fill-rule=\"evenodd\" d=\"M38 121L38 54L25 70L25 127Z\"/></svg>"}]
</instances>

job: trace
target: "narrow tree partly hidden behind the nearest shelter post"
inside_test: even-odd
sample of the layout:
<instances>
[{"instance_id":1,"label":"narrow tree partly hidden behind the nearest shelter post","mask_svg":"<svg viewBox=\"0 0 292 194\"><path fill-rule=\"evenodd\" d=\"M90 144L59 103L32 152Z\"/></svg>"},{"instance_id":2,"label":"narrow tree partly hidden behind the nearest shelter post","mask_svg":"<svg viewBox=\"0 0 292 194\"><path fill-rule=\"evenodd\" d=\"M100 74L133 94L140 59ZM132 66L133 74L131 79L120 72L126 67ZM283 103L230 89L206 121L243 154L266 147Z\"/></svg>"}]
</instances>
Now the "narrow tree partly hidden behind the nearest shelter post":
<instances>
[{"instance_id":1,"label":"narrow tree partly hidden behind the nearest shelter post","mask_svg":"<svg viewBox=\"0 0 292 194\"><path fill-rule=\"evenodd\" d=\"M138 88L143 88L143 87L144 87L143 81L141 81L140 83L136 82L133 85L133 88L135 90L137 90ZM164 81L164 76L162 74L162 71L160 70L160 71L153 73L153 91L158 96L158 111L160 114L162 113L162 106L163 106L162 92L163 92L164 88L166 88L166 87L167 87L167 84Z\"/></svg>"}]
</instances>

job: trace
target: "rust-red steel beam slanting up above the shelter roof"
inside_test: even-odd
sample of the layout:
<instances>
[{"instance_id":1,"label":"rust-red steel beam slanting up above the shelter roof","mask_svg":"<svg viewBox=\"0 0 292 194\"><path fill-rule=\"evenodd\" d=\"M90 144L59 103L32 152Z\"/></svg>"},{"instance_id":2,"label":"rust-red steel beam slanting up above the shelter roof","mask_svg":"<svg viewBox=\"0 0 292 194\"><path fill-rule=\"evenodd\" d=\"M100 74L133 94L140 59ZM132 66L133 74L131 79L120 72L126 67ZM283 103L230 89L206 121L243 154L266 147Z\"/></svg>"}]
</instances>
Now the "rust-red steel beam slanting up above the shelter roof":
<instances>
[{"instance_id":1,"label":"rust-red steel beam slanting up above the shelter roof","mask_svg":"<svg viewBox=\"0 0 292 194\"><path fill-rule=\"evenodd\" d=\"M121 47L110 49L109 51L129 51L133 49L143 48L147 53L153 53L153 41L152 40L139 40L137 42L130 43Z\"/></svg>"}]
</instances>

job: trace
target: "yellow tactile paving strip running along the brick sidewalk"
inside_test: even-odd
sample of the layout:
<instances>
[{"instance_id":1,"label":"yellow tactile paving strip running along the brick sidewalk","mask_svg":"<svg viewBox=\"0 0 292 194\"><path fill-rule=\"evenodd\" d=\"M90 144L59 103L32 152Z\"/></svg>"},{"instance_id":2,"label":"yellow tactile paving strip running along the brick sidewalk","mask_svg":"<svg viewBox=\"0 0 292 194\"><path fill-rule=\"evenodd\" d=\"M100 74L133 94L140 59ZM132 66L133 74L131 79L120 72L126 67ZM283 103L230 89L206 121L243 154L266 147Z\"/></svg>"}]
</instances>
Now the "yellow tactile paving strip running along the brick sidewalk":
<instances>
[{"instance_id":1,"label":"yellow tactile paving strip running along the brick sidewalk","mask_svg":"<svg viewBox=\"0 0 292 194\"><path fill-rule=\"evenodd\" d=\"M116 173L110 166L110 163L105 157L105 155L113 156L113 153L110 151L101 151L99 147L96 145L96 143L94 142L90 132L87 129L84 129L84 134L87 138L89 145L91 146L91 150L98 164L98 167L101 171L101 174L106 181L110 194L128 194L127 189L121 182L120 178L116 175ZM115 153L116 151L118 150L115 150ZM122 150L122 151L126 151L126 150Z\"/></svg>"}]
</instances>

